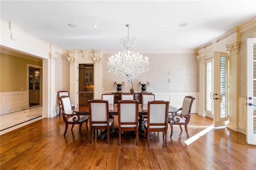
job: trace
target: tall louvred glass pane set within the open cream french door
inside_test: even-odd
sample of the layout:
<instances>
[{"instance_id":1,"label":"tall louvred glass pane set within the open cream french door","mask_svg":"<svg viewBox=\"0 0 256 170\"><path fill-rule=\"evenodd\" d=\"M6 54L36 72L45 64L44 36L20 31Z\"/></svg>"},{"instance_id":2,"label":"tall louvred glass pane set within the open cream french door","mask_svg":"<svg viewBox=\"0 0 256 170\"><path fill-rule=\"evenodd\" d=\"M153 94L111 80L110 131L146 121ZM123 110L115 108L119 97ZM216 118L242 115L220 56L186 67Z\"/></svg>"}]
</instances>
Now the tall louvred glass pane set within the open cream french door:
<instances>
[{"instance_id":1,"label":"tall louvred glass pane set within the open cream french door","mask_svg":"<svg viewBox=\"0 0 256 170\"><path fill-rule=\"evenodd\" d=\"M228 117L228 57L220 57L220 118Z\"/></svg>"}]
</instances>

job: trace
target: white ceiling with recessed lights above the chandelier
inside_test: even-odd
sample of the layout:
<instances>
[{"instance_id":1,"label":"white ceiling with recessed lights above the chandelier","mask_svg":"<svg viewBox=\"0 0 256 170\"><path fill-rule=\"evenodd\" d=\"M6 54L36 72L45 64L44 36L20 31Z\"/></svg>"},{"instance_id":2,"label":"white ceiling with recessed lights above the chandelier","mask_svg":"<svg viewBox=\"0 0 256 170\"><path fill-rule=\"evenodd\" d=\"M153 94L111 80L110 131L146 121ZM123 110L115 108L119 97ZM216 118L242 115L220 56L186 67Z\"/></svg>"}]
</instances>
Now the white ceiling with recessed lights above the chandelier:
<instances>
[{"instance_id":1,"label":"white ceiling with recessed lights above the chandelier","mask_svg":"<svg viewBox=\"0 0 256 170\"><path fill-rule=\"evenodd\" d=\"M256 0L1 0L0 11L2 19L62 49L120 50L130 24L136 50L194 50L256 17Z\"/></svg>"}]
</instances>

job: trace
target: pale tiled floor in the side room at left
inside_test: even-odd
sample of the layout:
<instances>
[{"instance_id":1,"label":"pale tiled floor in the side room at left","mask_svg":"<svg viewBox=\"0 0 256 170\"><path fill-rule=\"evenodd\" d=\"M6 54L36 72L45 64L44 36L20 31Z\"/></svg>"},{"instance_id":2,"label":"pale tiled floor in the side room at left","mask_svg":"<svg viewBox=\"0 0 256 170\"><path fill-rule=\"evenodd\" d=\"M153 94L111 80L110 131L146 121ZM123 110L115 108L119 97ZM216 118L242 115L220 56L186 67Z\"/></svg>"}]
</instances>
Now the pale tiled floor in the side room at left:
<instances>
[{"instance_id":1,"label":"pale tiled floor in the side room at left","mask_svg":"<svg viewBox=\"0 0 256 170\"><path fill-rule=\"evenodd\" d=\"M0 134L42 119L42 105L0 116Z\"/></svg>"}]
</instances>

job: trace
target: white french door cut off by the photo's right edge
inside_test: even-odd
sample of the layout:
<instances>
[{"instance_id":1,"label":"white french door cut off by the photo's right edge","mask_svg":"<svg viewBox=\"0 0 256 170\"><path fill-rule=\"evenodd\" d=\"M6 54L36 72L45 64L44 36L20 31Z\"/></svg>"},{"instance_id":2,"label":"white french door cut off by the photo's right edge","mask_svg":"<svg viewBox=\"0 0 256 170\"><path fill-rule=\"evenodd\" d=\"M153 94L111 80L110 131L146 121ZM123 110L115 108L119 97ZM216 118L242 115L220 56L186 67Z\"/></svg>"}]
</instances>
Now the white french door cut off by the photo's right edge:
<instances>
[{"instance_id":1,"label":"white french door cut off by the photo's right edge","mask_svg":"<svg viewBox=\"0 0 256 170\"><path fill-rule=\"evenodd\" d=\"M256 38L247 39L247 129L248 144L256 144Z\"/></svg>"}]
</instances>

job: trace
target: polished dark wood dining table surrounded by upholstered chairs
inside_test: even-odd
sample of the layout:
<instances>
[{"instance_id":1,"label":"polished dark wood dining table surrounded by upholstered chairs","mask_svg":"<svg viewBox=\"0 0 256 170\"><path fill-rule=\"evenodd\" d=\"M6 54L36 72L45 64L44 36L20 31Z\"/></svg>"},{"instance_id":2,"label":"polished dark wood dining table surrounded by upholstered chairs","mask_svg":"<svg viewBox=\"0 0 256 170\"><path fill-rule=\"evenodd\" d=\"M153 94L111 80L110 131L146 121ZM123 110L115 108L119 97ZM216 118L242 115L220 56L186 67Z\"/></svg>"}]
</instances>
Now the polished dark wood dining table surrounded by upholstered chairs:
<instances>
[{"instance_id":1,"label":"polished dark wood dining table surrounded by upholstered chairs","mask_svg":"<svg viewBox=\"0 0 256 170\"><path fill-rule=\"evenodd\" d=\"M168 115L176 115L178 109L169 105ZM74 113L77 115L89 115L89 106L88 105L79 105L74 109ZM118 115L118 104L108 104L108 113L112 116L114 120L114 115ZM144 132L144 116L148 115L148 105L147 104L139 104L139 132ZM118 128L114 128L114 132L118 132ZM105 137L105 132L102 132L99 138L103 139ZM150 134L150 139L152 139L152 134Z\"/></svg>"}]
</instances>

